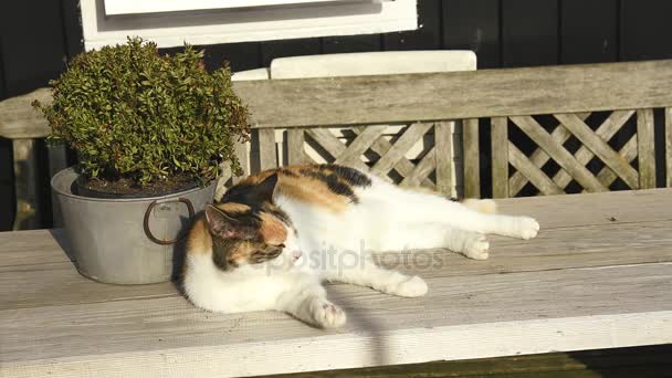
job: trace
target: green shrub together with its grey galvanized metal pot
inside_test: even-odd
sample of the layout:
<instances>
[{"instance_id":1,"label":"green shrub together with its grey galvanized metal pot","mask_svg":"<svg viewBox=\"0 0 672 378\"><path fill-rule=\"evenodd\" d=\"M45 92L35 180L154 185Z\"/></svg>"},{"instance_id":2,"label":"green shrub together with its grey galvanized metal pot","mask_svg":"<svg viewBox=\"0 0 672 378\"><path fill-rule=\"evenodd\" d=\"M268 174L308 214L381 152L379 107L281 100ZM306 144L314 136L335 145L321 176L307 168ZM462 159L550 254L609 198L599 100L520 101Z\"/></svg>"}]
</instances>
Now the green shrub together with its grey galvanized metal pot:
<instances>
[{"instance_id":1,"label":"green shrub together with its grey galvanized metal pot","mask_svg":"<svg viewBox=\"0 0 672 378\"><path fill-rule=\"evenodd\" d=\"M50 138L77 165L52 179L78 271L141 284L170 279L174 245L212 196L220 165L240 175L237 141L248 109L227 64L209 73L203 52L172 56L135 38L76 56L35 103Z\"/></svg>"}]
</instances>

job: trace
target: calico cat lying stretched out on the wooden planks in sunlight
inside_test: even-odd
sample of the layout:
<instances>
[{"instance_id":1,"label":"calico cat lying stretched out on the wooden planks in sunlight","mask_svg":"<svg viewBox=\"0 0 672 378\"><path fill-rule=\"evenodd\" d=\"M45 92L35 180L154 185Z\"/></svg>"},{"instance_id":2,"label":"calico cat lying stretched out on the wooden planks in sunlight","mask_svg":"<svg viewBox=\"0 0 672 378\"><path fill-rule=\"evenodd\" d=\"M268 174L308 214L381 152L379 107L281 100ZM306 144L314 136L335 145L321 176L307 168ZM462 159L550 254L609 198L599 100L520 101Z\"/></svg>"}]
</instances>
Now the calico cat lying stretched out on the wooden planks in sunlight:
<instances>
[{"instance_id":1,"label":"calico cat lying stretched out on the wooden planks in sunlight","mask_svg":"<svg viewBox=\"0 0 672 378\"><path fill-rule=\"evenodd\" d=\"M428 287L376 265L370 251L448 248L487 259L486 233L531 239L532 218L494 214L492 200L462 203L397 187L337 165L250 176L208 206L189 232L183 290L221 313L275 309L319 327L346 322L323 281L406 297Z\"/></svg>"}]
</instances>

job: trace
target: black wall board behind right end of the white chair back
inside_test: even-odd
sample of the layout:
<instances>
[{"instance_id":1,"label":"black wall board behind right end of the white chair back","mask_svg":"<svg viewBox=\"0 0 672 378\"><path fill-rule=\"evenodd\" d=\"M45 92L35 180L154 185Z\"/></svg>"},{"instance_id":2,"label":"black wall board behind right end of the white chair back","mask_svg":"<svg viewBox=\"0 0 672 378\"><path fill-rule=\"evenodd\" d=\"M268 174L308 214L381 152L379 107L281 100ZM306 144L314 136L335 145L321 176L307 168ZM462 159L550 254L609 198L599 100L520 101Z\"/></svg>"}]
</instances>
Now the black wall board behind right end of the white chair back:
<instances>
[{"instance_id":1,"label":"black wall board behind right end of the white chair back","mask_svg":"<svg viewBox=\"0 0 672 378\"><path fill-rule=\"evenodd\" d=\"M498 0L447 0L442 11L443 49L475 52L480 70L502 66Z\"/></svg>"}]
</instances>

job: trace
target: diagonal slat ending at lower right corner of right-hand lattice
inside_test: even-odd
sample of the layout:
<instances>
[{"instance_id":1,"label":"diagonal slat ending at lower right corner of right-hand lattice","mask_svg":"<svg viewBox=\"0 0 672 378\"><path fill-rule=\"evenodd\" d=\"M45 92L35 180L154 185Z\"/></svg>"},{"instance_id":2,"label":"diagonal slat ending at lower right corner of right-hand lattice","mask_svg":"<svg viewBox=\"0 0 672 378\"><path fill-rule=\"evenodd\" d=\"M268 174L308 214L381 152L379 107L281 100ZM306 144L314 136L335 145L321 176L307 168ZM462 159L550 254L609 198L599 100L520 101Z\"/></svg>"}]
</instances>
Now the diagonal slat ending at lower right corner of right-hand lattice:
<instances>
[{"instance_id":1,"label":"diagonal slat ending at lower right corner of right-hand lattice","mask_svg":"<svg viewBox=\"0 0 672 378\"><path fill-rule=\"evenodd\" d=\"M584 146L590 149L592 154L611 168L630 188L639 189L639 174L630 166L630 162L611 149L611 147L609 147L605 140L600 139L600 137L582 120L574 114L556 114L555 117L558 118L558 120L560 120L563 125L584 144ZM653 144L651 144L651 148L653 148Z\"/></svg>"}]
</instances>

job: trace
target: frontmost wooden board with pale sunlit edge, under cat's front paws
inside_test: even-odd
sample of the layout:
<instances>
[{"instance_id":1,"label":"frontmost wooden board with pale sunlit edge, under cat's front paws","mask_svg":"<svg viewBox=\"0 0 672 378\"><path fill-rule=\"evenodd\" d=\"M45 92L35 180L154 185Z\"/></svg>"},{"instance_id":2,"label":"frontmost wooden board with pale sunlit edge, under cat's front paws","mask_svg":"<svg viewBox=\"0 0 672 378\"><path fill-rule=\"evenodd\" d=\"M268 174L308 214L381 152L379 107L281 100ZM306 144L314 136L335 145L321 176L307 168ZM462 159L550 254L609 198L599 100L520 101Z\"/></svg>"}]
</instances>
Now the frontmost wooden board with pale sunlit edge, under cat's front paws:
<instances>
[{"instance_id":1,"label":"frontmost wooden board with pale sunlit edge, under cat's front paws","mask_svg":"<svg viewBox=\"0 0 672 378\"><path fill-rule=\"evenodd\" d=\"M279 313L209 314L177 296L10 309L0 312L0 361L8 377L248 376L666 344L670 274L672 264L651 264L429 279L429 295L416 300L333 285L330 297L350 315L339 333Z\"/></svg>"}]
</instances>

